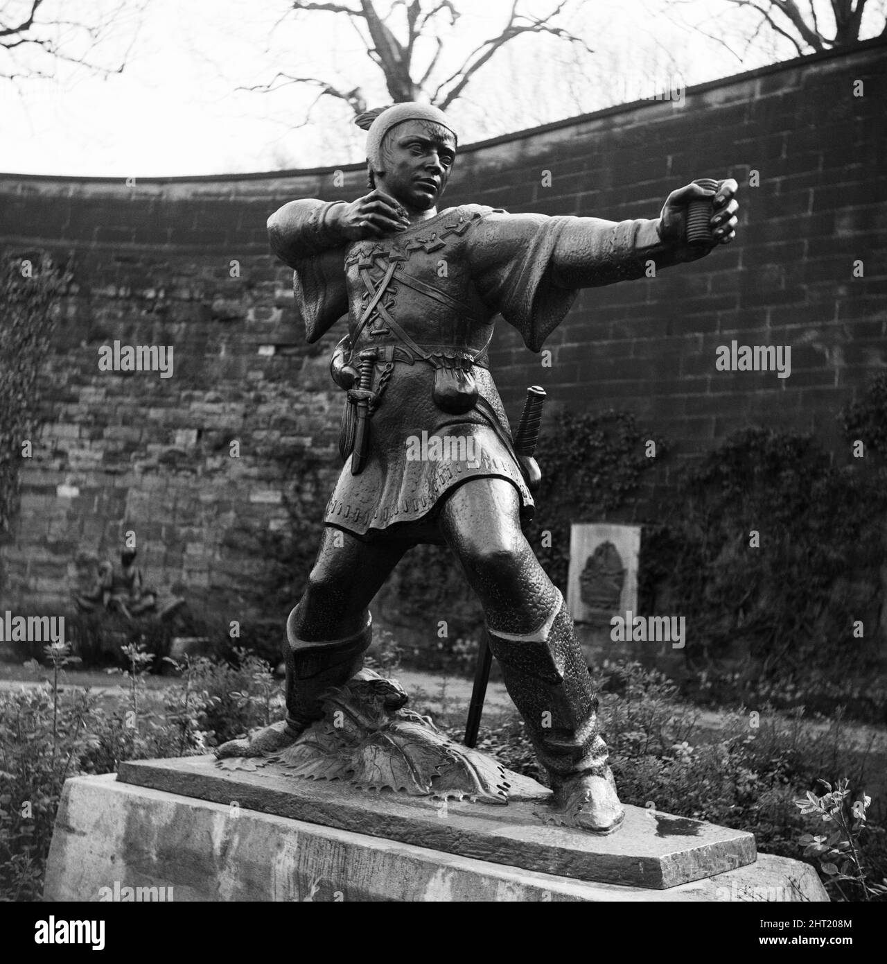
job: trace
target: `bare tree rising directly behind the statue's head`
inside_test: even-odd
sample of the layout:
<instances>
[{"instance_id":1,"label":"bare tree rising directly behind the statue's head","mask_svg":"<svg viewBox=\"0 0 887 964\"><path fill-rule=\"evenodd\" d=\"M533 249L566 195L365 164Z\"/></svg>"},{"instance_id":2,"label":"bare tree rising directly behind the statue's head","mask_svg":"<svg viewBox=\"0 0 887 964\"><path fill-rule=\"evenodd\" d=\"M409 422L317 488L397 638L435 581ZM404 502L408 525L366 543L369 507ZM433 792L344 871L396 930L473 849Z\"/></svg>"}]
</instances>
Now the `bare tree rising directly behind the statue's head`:
<instances>
[{"instance_id":1,"label":"bare tree rising directly behind the statue's head","mask_svg":"<svg viewBox=\"0 0 887 964\"><path fill-rule=\"evenodd\" d=\"M349 19L360 35L367 55L381 71L388 94L393 101L425 100L446 110L462 94L472 78L495 56L509 40L525 34L549 34L560 40L581 44L588 53L593 51L585 40L576 37L555 21L561 16L569 0L561 0L544 16L518 11L520 0L513 0L508 20L500 32L479 43L461 65L451 73L438 77L440 55L443 50L438 28L446 21L456 25L459 12L450 0L394 0L387 12L379 13L374 0L355 0L351 6L343 3L308 3L291 0L288 13L333 13ZM395 24L396 18L400 19ZM400 35L400 36L399 36ZM433 52L425 63L416 63L419 40L430 40ZM268 84L245 88L250 91L275 91L290 84L312 86L319 94L311 108L325 96L345 101L355 115L367 109L366 98L359 87L346 90L319 77L294 76L278 72ZM309 112L311 110L309 108Z\"/></svg>"}]
</instances>

